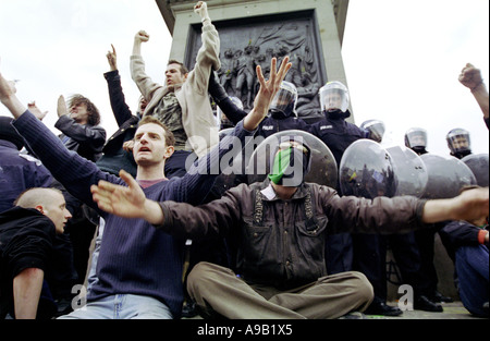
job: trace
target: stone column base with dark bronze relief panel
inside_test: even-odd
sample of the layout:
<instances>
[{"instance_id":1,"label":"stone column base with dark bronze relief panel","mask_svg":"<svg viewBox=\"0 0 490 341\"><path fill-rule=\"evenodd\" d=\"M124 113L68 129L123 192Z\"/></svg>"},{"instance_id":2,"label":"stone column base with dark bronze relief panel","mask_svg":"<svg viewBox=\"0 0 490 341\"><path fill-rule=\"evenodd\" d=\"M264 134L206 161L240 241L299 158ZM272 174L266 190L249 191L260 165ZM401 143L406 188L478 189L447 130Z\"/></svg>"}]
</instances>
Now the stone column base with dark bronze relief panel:
<instances>
[{"instance_id":1,"label":"stone column base with dark bronze relief panel","mask_svg":"<svg viewBox=\"0 0 490 341\"><path fill-rule=\"evenodd\" d=\"M173 37L169 58L183 61L189 70L201 44L201 23L193 10L196 2L157 0ZM297 112L307 121L321 117L321 86L340 81L348 87L341 54L348 0L209 0L207 4L220 33L220 80L245 109L250 109L257 92L254 65L269 65L271 56L291 57L293 69L286 81L298 88ZM350 121L354 122L354 113Z\"/></svg>"}]
</instances>

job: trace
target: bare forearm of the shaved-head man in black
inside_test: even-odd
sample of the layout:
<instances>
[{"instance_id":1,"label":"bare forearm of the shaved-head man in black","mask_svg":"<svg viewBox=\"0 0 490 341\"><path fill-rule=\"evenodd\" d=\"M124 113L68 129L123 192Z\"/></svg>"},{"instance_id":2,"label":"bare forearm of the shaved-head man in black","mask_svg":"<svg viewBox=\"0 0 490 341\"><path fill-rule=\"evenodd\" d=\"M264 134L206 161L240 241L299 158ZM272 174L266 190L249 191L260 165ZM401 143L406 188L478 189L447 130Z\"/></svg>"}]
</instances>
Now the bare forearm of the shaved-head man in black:
<instances>
[{"instance_id":1,"label":"bare forearm of the shaved-head man in black","mask_svg":"<svg viewBox=\"0 0 490 341\"><path fill-rule=\"evenodd\" d=\"M14 309L16 319L35 319L42 289L45 272L27 268L13 280Z\"/></svg>"}]
</instances>

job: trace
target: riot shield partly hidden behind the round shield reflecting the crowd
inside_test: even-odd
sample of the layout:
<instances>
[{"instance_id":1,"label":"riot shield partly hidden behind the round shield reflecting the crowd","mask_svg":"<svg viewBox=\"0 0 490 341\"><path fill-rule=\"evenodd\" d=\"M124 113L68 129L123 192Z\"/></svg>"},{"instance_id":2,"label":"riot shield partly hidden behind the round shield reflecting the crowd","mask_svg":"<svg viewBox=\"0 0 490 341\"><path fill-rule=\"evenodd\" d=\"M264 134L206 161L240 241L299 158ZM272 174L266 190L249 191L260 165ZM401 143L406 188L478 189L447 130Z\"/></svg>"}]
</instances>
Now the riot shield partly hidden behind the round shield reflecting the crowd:
<instances>
[{"instance_id":1,"label":"riot shield partly hidden behind the round shield reflecting the crowd","mask_svg":"<svg viewBox=\"0 0 490 341\"><path fill-rule=\"evenodd\" d=\"M429 180L429 173L421 158L405 146L393 146L387 148L387 151L392 157L399 181L395 195L421 197Z\"/></svg>"}]
</instances>

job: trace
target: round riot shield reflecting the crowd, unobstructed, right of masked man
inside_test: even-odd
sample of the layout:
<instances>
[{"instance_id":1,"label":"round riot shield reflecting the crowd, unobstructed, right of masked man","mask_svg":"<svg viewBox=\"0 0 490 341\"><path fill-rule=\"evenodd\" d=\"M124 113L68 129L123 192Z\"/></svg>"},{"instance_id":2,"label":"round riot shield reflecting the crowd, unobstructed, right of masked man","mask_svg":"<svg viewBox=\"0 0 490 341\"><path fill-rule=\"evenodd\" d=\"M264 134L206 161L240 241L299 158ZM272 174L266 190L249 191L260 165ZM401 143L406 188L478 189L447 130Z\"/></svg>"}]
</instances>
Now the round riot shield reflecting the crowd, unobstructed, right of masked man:
<instances>
[{"instance_id":1,"label":"round riot shield reflecting the crowd, unobstructed, right of masked man","mask_svg":"<svg viewBox=\"0 0 490 341\"><path fill-rule=\"evenodd\" d=\"M342 195L392 197L397 180L390 154L371 139L358 139L345 149L339 167Z\"/></svg>"}]
</instances>

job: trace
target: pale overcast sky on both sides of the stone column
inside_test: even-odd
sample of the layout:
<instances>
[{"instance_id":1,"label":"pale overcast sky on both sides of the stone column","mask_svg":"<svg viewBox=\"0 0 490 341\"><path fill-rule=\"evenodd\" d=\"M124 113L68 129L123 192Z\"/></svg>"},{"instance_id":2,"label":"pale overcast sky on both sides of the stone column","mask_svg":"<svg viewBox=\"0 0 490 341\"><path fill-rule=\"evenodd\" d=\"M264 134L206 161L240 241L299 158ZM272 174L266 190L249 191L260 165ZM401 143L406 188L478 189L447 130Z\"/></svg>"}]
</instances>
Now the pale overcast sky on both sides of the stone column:
<instances>
[{"instance_id":1,"label":"pale overcast sky on both sides of the stone column","mask_svg":"<svg viewBox=\"0 0 490 341\"><path fill-rule=\"evenodd\" d=\"M101 111L108 136L117 130L102 76L110 45L134 111L139 96L128 66L134 35L150 34L143 56L157 82L163 82L171 47L154 0L0 0L0 70L20 80L23 102L35 100L48 110L45 122L52 127L58 97L83 94ZM387 142L399 145L407 129L424 127L428 150L439 155L449 154L445 134L463 127L475 154L489 153L481 111L457 81L471 62L488 86L488 0L351 0L343 59L357 124L382 120Z\"/></svg>"}]
</instances>

